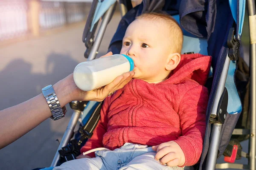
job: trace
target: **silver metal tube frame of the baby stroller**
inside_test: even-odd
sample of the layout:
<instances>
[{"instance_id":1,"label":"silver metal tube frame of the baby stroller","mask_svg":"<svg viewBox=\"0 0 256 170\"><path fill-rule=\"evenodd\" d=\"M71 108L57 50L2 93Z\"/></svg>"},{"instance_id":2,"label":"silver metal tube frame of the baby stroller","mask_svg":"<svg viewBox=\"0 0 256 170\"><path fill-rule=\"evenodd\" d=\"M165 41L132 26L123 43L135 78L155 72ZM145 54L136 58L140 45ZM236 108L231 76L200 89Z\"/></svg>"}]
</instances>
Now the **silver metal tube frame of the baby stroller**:
<instances>
[{"instance_id":1,"label":"silver metal tube frame of the baby stroller","mask_svg":"<svg viewBox=\"0 0 256 170\"><path fill-rule=\"evenodd\" d=\"M116 6L116 3L114 3L104 14L104 17L102 19L101 25L99 26L98 34L93 42L93 39L90 39L89 41L93 42L92 49L89 52L88 60L95 59L96 55L98 54L99 45L102 41L103 35L105 33L105 29L111 20L114 7ZM249 18L250 16L256 15L255 10L255 2L254 0L247 0L247 6L248 6L248 14ZM122 4L122 2L119 1L119 8L121 11L122 17L127 12L127 9L125 8L125 5ZM250 112L251 112L251 125L250 130L243 130L243 129L237 129L234 130L233 134L241 135L241 134L250 134L250 150L249 150L249 165L247 164L230 164L230 163L224 163L224 164L216 164L216 158L218 156L218 148L220 143L220 137L221 137L221 128L222 123L213 123L212 125L212 133L210 138L210 144L209 144L209 150L207 155L207 164L206 169L207 170L215 170L215 168L218 169L227 169L227 168L235 168L235 169L247 169L247 170L256 170L256 42L252 40L256 40L256 37L252 37L251 34L253 31L253 23L249 20L249 30L250 30ZM254 29L255 30L255 29ZM255 34L254 34L255 36ZM84 40L83 40L84 41ZM88 40L87 40L88 41ZM224 64L224 71L221 74L221 80L216 92L216 97L213 104L213 109L210 115L210 117L215 118L218 117L217 115L217 108L219 100L221 99L221 95L223 91L225 90L225 82L227 78L227 71L229 68L230 58L227 56L225 64ZM64 133L64 136L61 140L61 143L58 147L58 150L61 150L62 147L66 146L68 142L70 141L70 138L72 136L73 130L78 122L79 116L81 112L83 111L84 107L86 105L83 104L82 107L79 107L78 101L73 101L72 105L76 105L76 109L73 112L73 115L70 119L70 122L67 126L67 130ZM225 118L225 116L224 116ZM55 157L52 161L51 167L56 166L58 160L60 159L60 155L57 152L55 153Z\"/></svg>"}]
</instances>

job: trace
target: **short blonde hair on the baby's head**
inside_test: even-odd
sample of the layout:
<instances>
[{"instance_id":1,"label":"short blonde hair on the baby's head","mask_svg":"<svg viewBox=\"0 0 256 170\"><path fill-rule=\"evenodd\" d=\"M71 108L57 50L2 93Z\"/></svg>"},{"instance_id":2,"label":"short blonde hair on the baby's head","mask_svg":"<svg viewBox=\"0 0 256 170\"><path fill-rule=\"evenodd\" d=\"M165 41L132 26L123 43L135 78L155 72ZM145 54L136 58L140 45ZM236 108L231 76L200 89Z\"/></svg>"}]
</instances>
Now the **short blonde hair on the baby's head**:
<instances>
[{"instance_id":1,"label":"short blonde hair on the baby's head","mask_svg":"<svg viewBox=\"0 0 256 170\"><path fill-rule=\"evenodd\" d=\"M175 48L172 49L173 53L180 53L183 43L183 33L180 28L180 25L177 23L177 21L171 17L168 14L163 13L145 13L141 14L140 16L136 17L136 20L151 20L151 21L162 21L166 23L170 28L170 35L172 36L170 38L170 42L172 42L172 45L174 45Z\"/></svg>"}]
</instances>

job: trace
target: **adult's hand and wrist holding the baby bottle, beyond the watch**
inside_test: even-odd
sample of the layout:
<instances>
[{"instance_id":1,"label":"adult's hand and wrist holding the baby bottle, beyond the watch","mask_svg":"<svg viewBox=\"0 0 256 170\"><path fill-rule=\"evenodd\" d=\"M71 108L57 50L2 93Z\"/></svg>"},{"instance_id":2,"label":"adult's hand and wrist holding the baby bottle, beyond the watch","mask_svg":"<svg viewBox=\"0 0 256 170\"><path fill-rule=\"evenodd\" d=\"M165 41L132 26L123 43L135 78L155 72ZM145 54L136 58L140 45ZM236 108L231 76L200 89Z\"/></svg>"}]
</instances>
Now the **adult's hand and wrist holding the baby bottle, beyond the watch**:
<instances>
[{"instance_id":1,"label":"adult's hand and wrist holding the baby bottle, beyond the watch","mask_svg":"<svg viewBox=\"0 0 256 170\"><path fill-rule=\"evenodd\" d=\"M109 52L108 54L102 56L110 56L112 55L112 52ZM56 92L56 95L58 96L58 99L61 103L61 106L66 105L67 103L71 101L97 101L100 102L104 100L108 94L111 94L112 92L123 88L134 76L135 72L130 71L127 73L124 73L120 75L119 77L116 77L116 79L113 80L108 85L105 85L101 88L94 89L92 91L82 91L80 90L73 79L73 74L70 74L66 78L62 79L61 81L57 82L53 88Z\"/></svg>"}]
</instances>

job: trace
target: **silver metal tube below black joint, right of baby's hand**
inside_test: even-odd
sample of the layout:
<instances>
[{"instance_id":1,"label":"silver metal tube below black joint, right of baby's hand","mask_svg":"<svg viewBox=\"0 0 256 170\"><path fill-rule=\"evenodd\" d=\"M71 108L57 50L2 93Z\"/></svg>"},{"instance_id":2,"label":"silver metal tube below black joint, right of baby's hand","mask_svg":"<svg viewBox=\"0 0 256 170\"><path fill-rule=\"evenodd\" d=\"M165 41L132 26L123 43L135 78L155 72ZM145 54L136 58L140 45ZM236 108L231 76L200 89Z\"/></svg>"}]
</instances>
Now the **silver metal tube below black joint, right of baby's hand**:
<instances>
[{"instance_id":1,"label":"silver metal tube below black joint, right of baby's hand","mask_svg":"<svg viewBox=\"0 0 256 170\"><path fill-rule=\"evenodd\" d=\"M216 159L218 156L218 147L221 138L222 124L214 123L212 125L212 135L207 155L206 170L215 170Z\"/></svg>"}]
</instances>

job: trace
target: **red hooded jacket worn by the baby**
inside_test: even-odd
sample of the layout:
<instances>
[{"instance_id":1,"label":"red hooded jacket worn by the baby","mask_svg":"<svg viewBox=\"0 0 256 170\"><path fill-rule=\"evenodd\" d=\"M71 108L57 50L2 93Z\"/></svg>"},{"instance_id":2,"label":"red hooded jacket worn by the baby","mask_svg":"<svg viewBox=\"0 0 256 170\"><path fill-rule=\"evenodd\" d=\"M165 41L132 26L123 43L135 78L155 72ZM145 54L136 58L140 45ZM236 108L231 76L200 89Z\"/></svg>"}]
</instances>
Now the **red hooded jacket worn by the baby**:
<instances>
[{"instance_id":1,"label":"red hooded jacket worn by the baby","mask_svg":"<svg viewBox=\"0 0 256 170\"><path fill-rule=\"evenodd\" d=\"M206 129L208 91L203 85L210 64L210 56L181 55L165 81L131 80L105 99L99 124L81 153L97 147L114 150L126 142L154 146L175 141L186 158L183 166L196 164Z\"/></svg>"}]
</instances>

